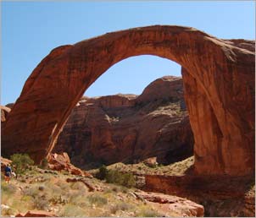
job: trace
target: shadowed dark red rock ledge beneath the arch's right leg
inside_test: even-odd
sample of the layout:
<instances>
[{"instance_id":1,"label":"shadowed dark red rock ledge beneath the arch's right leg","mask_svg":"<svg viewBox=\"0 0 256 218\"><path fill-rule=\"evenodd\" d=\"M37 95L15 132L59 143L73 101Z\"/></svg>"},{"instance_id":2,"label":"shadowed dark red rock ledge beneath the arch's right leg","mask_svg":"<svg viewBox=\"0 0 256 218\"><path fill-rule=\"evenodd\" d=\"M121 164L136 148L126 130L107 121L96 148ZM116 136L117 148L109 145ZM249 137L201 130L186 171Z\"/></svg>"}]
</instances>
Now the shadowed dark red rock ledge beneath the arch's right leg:
<instances>
[{"instance_id":1,"label":"shadowed dark red rock ledge beneath the arch's right leg","mask_svg":"<svg viewBox=\"0 0 256 218\"><path fill-rule=\"evenodd\" d=\"M144 175L145 191L172 194L203 204L205 216L255 216L255 177Z\"/></svg>"}]
</instances>

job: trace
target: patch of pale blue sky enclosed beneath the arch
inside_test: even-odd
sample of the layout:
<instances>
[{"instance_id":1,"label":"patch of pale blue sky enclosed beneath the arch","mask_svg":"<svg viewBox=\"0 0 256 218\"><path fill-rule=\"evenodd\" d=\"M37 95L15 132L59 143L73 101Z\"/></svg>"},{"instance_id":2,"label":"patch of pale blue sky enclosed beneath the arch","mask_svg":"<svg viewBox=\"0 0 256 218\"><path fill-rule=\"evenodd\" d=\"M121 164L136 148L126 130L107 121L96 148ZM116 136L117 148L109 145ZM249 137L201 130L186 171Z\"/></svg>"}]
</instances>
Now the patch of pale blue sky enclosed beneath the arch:
<instances>
[{"instance_id":1,"label":"patch of pale blue sky enclosed beneath the arch","mask_svg":"<svg viewBox=\"0 0 256 218\"><path fill-rule=\"evenodd\" d=\"M141 95L148 84L165 75L181 77L181 65L152 55L128 57L104 72L84 95Z\"/></svg>"}]
</instances>

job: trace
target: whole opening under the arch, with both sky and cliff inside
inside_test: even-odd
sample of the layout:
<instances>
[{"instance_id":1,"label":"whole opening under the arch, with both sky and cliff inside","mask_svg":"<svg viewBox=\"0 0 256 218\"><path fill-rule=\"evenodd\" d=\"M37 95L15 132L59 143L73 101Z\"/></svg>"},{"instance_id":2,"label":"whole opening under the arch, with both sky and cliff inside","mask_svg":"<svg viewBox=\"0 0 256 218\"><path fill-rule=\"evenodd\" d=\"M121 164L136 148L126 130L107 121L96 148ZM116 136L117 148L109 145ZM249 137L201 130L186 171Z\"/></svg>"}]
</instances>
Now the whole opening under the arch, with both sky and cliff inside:
<instances>
[{"instance_id":1,"label":"whole opening under the arch, with both sky and cliff inside","mask_svg":"<svg viewBox=\"0 0 256 218\"><path fill-rule=\"evenodd\" d=\"M85 94L79 101L53 153L67 152L75 166L86 170L148 158L169 165L192 156L180 65L155 56L129 57L92 85L101 94Z\"/></svg>"}]
</instances>

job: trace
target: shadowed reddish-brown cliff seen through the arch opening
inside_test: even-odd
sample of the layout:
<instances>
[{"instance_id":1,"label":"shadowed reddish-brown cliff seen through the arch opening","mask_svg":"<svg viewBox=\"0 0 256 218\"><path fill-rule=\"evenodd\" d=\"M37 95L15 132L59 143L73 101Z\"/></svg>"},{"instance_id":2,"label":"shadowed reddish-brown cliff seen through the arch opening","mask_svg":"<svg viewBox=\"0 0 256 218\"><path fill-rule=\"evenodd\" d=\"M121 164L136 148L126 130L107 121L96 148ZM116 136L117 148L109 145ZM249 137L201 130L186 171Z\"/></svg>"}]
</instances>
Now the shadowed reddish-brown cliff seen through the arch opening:
<instances>
[{"instance_id":1,"label":"shadowed reddish-brown cliff seen through the arch opening","mask_svg":"<svg viewBox=\"0 0 256 218\"><path fill-rule=\"evenodd\" d=\"M153 81L142 95L82 99L72 111L53 152L67 151L76 166L91 162L159 163L192 155L193 137L182 79Z\"/></svg>"}]
</instances>

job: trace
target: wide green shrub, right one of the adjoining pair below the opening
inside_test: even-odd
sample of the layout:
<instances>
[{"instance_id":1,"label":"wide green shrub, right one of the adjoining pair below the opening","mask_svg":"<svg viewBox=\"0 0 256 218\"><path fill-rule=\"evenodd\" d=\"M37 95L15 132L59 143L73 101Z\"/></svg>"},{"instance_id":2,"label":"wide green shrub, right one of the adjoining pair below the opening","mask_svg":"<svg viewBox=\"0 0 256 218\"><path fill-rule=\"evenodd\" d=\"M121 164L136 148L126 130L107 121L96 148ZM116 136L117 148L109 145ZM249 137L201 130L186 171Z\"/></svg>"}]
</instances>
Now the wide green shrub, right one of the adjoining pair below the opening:
<instances>
[{"instance_id":1,"label":"wide green shrub, right one of the adjoining pair below the opening","mask_svg":"<svg viewBox=\"0 0 256 218\"><path fill-rule=\"evenodd\" d=\"M136 185L135 177L131 172L118 172L114 170L110 170L106 176L107 183L115 183L119 185L123 185L125 187L131 188Z\"/></svg>"}]
</instances>

